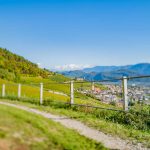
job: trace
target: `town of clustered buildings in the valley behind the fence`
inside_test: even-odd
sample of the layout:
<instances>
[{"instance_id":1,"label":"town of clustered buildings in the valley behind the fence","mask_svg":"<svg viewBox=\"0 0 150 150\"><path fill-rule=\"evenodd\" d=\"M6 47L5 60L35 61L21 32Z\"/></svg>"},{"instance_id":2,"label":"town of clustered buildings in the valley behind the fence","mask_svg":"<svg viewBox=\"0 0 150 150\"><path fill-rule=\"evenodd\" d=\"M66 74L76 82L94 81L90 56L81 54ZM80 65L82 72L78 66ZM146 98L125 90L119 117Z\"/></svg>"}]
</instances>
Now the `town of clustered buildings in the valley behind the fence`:
<instances>
[{"instance_id":1,"label":"town of clustered buildings in the valley behind the fence","mask_svg":"<svg viewBox=\"0 0 150 150\"><path fill-rule=\"evenodd\" d=\"M105 88L100 88L91 83L91 89L79 88L78 92L86 95L92 95L95 99L106 103L123 106L123 91L122 84L105 83ZM99 83L97 83L99 84ZM129 104L135 102L150 104L150 87L131 84L128 86L128 101Z\"/></svg>"}]
</instances>

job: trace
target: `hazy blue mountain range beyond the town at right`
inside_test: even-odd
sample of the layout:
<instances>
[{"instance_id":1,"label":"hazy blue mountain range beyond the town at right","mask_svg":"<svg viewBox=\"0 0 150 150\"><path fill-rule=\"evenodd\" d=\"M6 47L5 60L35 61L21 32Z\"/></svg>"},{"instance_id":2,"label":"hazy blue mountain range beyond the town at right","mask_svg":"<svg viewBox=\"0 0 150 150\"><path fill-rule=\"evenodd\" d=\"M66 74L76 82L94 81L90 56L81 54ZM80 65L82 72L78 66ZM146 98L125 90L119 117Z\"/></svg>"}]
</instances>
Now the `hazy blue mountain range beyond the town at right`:
<instances>
[{"instance_id":1,"label":"hazy blue mountain range beyond the town at right","mask_svg":"<svg viewBox=\"0 0 150 150\"><path fill-rule=\"evenodd\" d=\"M140 63L127 66L96 66L83 70L68 71L62 73L68 77L80 77L86 80L105 80L120 78L122 76L150 75L150 64Z\"/></svg>"}]
</instances>

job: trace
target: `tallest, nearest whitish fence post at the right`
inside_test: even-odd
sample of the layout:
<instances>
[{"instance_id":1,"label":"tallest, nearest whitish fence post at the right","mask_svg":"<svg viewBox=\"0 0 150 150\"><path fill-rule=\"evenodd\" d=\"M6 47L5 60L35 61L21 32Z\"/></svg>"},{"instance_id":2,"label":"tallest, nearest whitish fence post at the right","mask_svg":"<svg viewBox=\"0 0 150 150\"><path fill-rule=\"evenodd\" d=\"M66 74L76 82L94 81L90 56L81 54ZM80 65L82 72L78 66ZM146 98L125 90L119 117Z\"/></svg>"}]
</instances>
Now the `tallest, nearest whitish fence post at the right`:
<instances>
[{"instance_id":1,"label":"tallest, nearest whitish fence post at the right","mask_svg":"<svg viewBox=\"0 0 150 150\"><path fill-rule=\"evenodd\" d=\"M123 100L124 100L124 110L128 111L128 79L123 77L122 87L123 87Z\"/></svg>"}]
</instances>

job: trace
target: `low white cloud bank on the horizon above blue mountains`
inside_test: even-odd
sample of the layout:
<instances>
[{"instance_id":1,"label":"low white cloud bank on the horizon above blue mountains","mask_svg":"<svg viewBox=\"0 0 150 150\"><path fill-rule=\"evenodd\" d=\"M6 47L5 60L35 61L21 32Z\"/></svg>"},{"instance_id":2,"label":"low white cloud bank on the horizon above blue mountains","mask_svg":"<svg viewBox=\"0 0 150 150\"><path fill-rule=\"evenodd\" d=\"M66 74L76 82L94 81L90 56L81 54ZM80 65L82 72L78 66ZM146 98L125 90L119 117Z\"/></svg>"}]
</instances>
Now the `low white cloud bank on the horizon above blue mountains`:
<instances>
[{"instance_id":1,"label":"low white cloud bank on the horizon above blue mountains","mask_svg":"<svg viewBox=\"0 0 150 150\"><path fill-rule=\"evenodd\" d=\"M91 67L91 65L77 65L77 64L66 64L55 66L54 69L57 71L68 71L68 70L81 70L84 68Z\"/></svg>"}]
</instances>

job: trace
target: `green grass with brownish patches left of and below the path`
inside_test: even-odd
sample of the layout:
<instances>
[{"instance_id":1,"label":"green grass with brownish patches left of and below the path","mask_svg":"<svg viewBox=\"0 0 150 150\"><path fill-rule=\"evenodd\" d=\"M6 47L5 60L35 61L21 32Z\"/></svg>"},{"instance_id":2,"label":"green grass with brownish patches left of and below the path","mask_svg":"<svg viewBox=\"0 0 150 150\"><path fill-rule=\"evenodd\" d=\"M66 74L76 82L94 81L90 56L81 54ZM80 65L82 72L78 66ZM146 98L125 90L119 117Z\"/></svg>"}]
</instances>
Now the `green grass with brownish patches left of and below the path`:
<instances>
[{"instance_id":1,"label":"green grass with brownish patches left of and below the path","mask_svg":"<svg viewBox=\"0 0 150 150\"><path fill-rule=\"evenodd\" d=\"M42 116L0 105L0 149L106 149L71 129Z\"/></svg>"}]
</instances>

